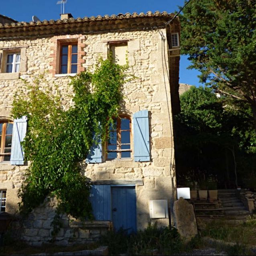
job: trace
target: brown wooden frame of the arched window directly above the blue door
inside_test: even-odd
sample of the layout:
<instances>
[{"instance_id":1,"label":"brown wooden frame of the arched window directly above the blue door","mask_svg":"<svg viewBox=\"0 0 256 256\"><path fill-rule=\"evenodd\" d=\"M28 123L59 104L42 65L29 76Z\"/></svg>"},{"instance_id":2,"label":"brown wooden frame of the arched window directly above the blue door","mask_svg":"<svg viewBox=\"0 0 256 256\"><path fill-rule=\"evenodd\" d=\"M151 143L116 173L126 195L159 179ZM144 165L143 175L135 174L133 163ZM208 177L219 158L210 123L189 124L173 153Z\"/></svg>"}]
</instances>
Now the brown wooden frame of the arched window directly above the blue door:
<instances>
[{"instance_id":1,"label":"brown wooden frame of the arched window directly above the blue door","mask_svg":"<svg viewBox=\"0 0 256 256\"><path fill-rule=\"evenodd\" d=\"M128 119L130 122L130 129L129 130L121 130L121 120ZM130 143L122 143L121 144L121 132L123 131L130 131ZM109 131L108 131L109 132ZM129 149L121 149L122 145L130 144ZM116 118L116 150L108 150L108 145L115 145L109 144L106 142L106 160L114 160L114 159L130 159L132 158L132 120L130 116L122 114ZM108 158L108 152L116 152L116 158ZM122 157L122 152L130 152L130 157Z\"/></svg>"}]
</instances>

